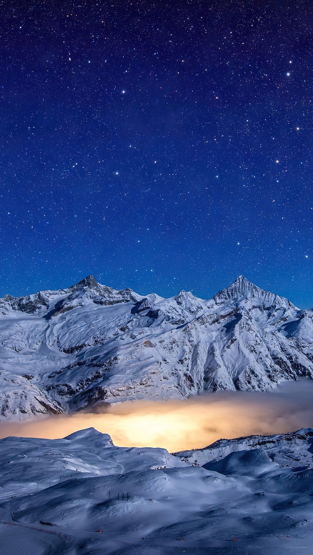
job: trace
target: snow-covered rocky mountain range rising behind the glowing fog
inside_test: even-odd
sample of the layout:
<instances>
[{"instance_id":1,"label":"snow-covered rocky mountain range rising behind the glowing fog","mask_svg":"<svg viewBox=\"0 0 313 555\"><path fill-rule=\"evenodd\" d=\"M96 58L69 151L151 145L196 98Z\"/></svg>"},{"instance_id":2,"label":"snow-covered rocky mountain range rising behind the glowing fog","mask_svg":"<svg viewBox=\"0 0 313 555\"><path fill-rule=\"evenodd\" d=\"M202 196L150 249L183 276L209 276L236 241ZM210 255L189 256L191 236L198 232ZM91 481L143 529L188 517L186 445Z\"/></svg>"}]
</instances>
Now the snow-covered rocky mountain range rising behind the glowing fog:
<instances>
[{"instance_id":1,"label":"snow-covered rocky mountain range rising behind the glowing fog","mask_svg":"<svg viewBox=\"0 0 313 555\"><path fill-rule=\"evenodd\" d=\"M202 300L117 291L88 276L0 300L2 418L99 402L269 390L313 377L313 317L244 276Z\"/></svg>"}]
</instances>

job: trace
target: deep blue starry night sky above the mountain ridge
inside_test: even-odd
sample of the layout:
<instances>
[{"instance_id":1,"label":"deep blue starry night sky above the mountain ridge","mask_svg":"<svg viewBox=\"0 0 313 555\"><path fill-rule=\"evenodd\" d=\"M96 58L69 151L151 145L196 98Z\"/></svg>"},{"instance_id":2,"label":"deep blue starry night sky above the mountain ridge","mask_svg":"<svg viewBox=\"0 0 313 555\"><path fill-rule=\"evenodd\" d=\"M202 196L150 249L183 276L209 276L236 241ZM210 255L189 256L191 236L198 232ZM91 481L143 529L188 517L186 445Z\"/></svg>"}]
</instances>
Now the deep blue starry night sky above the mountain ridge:
<instances>
[{"instance_id":1,"label":"deep blue starry night sky above the mountain ridge","mask_svg":"<svg viewBox=\"0 0 313 555\"><path fill-rule=\"evenodd\" d=\"M29 6L29 4L32 4ZM311 2L4 2L0 295L313 306Z\"/></svg>"}]
</instances>

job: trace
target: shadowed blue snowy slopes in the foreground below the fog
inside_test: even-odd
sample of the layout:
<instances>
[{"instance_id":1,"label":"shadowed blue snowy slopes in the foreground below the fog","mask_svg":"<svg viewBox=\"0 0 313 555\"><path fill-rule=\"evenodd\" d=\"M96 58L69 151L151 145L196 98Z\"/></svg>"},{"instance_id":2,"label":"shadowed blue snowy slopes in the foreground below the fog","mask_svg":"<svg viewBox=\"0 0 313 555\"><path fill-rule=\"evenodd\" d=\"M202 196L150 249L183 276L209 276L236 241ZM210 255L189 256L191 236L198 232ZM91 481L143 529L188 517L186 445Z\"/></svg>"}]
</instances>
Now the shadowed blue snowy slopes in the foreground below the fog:
<instances>
[{"instance_id":1,"label":"shadowed blue snowy slopes in the foreground below the fog","mask_svg":"<svg viewBox=\"0 0 313 555\"><path fill-rule=\"evenodd\" d=\"M5 438L1 553L311 553L312 448L313 428L176 456L93 428Z\"/></svg>"}]
</instances>

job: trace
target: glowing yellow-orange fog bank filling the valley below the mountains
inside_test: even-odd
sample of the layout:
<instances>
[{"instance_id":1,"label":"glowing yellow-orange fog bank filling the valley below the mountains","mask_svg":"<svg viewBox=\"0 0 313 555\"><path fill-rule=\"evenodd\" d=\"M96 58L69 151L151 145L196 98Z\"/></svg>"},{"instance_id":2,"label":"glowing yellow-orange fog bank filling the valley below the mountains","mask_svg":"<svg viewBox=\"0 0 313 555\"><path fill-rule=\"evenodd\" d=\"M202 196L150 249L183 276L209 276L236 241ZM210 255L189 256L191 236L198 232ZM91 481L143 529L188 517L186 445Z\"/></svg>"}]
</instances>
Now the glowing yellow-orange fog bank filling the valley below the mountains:
<instances>
[{"instance_id":1,"label":"glowing yellow-orange fog bank filling the valley below the mountains","mask_svg":"<svg viewBox=\"0 0 313 555\"><path fill-rule=\"evenodd\" d=\"M109 433L115 445L205 447L219 438L284 433L313 427L313 382L285 382L275 391L223 391L185 401L134 401L97 412L0 423L0 437L60 438L83 428Z\"/></svg>"}]
</instances>

